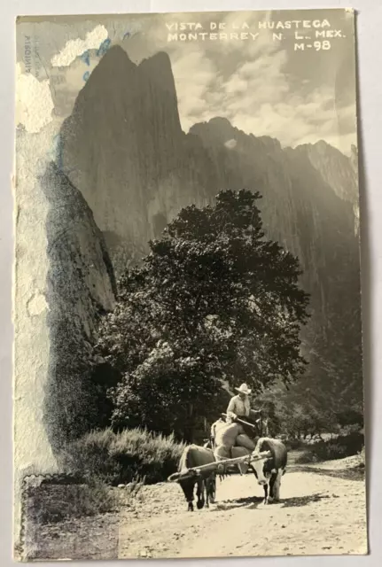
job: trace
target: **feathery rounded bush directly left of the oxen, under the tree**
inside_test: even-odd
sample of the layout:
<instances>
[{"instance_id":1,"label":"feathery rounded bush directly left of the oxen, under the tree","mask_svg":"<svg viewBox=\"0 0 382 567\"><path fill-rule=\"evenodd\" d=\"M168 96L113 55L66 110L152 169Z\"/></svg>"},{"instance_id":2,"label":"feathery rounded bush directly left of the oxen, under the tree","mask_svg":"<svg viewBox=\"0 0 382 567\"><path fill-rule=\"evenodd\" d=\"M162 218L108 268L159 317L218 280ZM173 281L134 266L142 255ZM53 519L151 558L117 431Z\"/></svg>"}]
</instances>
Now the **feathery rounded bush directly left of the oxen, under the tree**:
<instances>
[{"instance_id":1,"label":"feathery rounded bush directly left of the oxen, under the tree","mask_svg":"<svg viewBox=\"0 0 382 567\"><path fill-rule=\"evenodd\" d=\"M85 479L100 478L108 485L128 484L136 478L153 484L166 480L176 470L184 447L172 435L106 429L67 444L61 464L66 472Z\"/></svg>"}]
</instances>

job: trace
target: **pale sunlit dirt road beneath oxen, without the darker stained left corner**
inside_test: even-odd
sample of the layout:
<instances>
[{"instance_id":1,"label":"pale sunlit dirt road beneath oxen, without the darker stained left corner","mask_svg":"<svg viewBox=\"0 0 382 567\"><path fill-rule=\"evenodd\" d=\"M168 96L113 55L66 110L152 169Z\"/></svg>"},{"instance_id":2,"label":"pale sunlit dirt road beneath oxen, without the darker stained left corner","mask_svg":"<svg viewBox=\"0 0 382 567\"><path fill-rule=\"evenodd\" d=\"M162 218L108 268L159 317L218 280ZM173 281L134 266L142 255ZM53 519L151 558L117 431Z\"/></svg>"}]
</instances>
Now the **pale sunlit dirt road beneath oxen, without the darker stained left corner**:
<instances>
[{"instance_id":1,"label":"pale sunlit dirt road beneath oxen, without the darker stained left corner","mask_svg":"<svg viewBox=\"0 0 382 567\"><path fill-rule=\"evenodd\" d=\"M233 476L218 485L210 509L193 514L184 511L178 486L150 488L152 502L143 492L134 522L131 512L121 514L121 558L366 552L365 494L357 480L290 471L282 501L264 506L253 476Z\"/></svg>"}]
</instances>

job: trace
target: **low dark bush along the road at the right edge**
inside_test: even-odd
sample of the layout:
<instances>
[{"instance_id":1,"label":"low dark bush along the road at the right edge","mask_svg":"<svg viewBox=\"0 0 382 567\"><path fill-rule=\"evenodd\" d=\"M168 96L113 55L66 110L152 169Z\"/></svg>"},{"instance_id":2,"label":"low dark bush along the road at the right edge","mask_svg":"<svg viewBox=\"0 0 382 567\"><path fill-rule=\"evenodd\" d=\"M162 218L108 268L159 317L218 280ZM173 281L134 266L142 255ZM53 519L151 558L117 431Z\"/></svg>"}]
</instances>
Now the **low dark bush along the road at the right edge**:
<instances>
[{"instance_id":1,"label":"low dark bush along the road at the right edge","mask_svg":"<svg viewBox=\"0 0 382 567\"><path fill-rule=\"evenodd\" d=\"M358 454L363 449L363 434L353 432L349 435L339 436L337 439L319 441L304 451L296 462L305 464L308 462L331 461Z\"/></svg>"}]
</instances>

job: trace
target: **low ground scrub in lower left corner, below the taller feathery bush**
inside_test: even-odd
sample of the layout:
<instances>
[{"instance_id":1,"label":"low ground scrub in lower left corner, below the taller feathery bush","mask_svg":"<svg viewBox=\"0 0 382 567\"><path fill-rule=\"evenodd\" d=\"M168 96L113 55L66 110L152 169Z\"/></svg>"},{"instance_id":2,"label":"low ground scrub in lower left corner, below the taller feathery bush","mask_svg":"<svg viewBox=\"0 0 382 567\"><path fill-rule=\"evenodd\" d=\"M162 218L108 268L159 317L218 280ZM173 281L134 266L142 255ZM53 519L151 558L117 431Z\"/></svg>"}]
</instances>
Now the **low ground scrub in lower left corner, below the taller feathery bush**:
<instances>
[{"instance_id":1,"label":"low ground scrub in lower left corner, below the taller feathery bush","mask_svg":"<svg viewBox=\"0 0 382 567\"><path fill-rule=\"evenodd\" d=\"M53 481L27 487L28 517L36 524L95 516L117 508L117 495L97 479L90 480L87 485L63 485Z\"/></svg>"}]
</instances>

